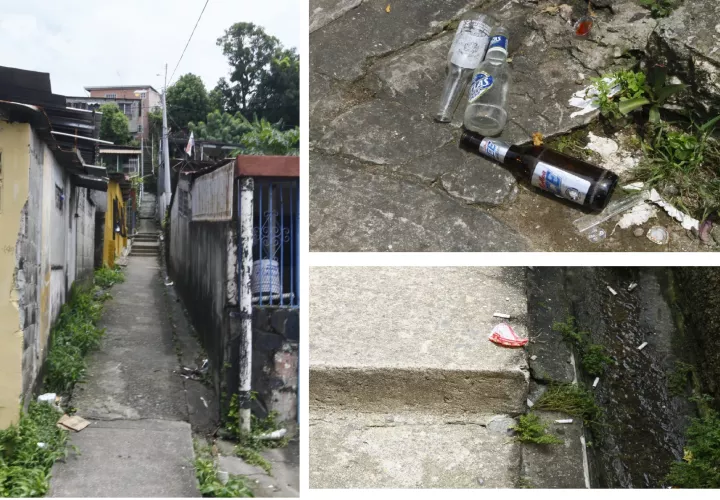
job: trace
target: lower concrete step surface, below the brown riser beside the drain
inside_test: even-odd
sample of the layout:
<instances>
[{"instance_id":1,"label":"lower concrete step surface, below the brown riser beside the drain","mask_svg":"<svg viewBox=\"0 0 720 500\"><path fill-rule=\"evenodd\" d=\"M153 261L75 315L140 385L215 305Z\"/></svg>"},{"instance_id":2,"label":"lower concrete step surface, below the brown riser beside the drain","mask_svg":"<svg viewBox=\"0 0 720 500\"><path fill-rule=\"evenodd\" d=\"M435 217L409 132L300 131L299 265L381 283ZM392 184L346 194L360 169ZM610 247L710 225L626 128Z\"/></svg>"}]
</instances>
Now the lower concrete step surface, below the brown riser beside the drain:
<instances>
[{"instance_id":1,"label":"lower concrete step surface, below the brown riser beside the drain","mask_svg":"<svg viewBox=\"0 0 720 500\"><path fill-rule=\"evenodd\" d=\"M312 386L311 386L312 387ZM513 488L508 417L338 411L310 419L311 488Z\"/></svg>"}]
</instances>

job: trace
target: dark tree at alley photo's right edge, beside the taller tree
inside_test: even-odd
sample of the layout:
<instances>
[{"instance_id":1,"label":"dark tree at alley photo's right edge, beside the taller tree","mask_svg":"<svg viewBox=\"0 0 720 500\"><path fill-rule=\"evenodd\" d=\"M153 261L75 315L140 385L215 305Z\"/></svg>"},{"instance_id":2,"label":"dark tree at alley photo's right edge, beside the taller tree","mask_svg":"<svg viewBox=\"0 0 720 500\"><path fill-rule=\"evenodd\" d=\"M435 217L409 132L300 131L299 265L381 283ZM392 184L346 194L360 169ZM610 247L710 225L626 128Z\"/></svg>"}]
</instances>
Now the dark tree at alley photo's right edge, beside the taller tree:
<instances>
[{"instance_id":1,"label":"dark tree at alley photo's right edge, beside the taller tree","mask_svg":"<svg viewBox=\"0 0 720 500\"><path fill-rule=\"evenodd\" d=\"M251 111L281 128L300 124L300 58L295 49L278 49L250 101Z\"/></svg>"}]
</instances>

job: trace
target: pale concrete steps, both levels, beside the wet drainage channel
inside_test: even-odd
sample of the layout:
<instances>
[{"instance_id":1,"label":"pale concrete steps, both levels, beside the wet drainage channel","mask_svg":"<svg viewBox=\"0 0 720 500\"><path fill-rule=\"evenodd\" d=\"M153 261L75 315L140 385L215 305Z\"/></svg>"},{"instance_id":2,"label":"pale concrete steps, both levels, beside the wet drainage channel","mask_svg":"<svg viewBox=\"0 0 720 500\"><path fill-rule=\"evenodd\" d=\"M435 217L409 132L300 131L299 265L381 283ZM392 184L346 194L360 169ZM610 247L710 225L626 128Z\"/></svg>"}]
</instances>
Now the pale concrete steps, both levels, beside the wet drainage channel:
<instances>
[{"instance_id":1,"label":"pale concrete steps, both levels, beside the wet drainage channel","mask_svg":"<svg viewBox=\"0 0 720 500\"><path fill-rule=\"evenodd\" d=\"M518 486L526 356L488 335L527 337L523 268L315 267L310 289L311 488Z\"/></svg>"}]
</instances>

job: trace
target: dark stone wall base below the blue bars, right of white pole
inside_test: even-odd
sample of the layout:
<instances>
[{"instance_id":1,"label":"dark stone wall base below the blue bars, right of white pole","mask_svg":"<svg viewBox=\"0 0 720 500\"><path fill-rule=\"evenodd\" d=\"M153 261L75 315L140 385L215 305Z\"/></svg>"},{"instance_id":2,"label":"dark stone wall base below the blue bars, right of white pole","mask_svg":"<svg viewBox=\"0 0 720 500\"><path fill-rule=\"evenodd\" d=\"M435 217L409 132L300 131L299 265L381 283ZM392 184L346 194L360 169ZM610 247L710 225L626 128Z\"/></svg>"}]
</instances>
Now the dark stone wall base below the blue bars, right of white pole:
<instances>
[{"instance_id":1,"label":"dark stone wall base below the blue bars, right of white pole","mask_svg":"<svg viewBox=\"0 0 720 500\"><path fill-rule=\"evenodd\" d=\"M300 314L287 307L253 308L253 391L266 412L297 425Z\"/></svg>"}]
</instances>

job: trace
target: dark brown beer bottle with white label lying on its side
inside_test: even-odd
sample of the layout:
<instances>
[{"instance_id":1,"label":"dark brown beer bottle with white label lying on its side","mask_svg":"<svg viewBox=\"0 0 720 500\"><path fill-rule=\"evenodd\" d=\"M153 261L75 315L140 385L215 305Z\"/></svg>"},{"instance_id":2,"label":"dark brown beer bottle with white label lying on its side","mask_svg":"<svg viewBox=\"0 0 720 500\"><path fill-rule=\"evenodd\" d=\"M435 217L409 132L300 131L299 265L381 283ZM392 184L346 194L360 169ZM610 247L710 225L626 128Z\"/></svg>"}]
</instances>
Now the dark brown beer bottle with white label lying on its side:
<instances>
[{"instance_id":1,"label":"dark brown beer bottle with white label lying on its side","mask_svg":"<svg viewBox=\"0 0 720 500\"><path fill-rule=\"evenodd\" d=\"M460 148L502 163L543 191L598 212L618 182L609 170L543 146L511 146L465 130Z\"/></svg>"}]
</instances>

